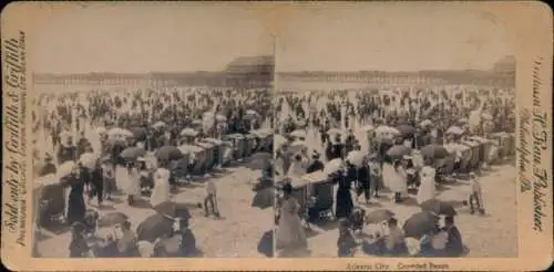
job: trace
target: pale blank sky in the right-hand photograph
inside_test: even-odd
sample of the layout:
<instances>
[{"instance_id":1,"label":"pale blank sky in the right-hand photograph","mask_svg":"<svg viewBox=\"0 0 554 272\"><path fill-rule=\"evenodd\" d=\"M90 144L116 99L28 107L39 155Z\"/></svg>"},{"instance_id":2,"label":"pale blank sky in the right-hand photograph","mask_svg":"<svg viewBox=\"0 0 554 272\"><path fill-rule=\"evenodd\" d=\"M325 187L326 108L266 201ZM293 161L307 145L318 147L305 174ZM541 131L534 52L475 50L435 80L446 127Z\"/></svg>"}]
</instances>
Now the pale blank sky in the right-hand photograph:
<instances>
[{"instance_id":1,"label":"pale blank sky in the right-hand photograph","mask_svg":"<svg viewBox=\"0 0 554 272\"><path fill-rule=\"evenodd\" d=\"M440 3L307 8L279 32L276 70L488 70L512 54L493 14Z\"/></svg>"}]
</instances>

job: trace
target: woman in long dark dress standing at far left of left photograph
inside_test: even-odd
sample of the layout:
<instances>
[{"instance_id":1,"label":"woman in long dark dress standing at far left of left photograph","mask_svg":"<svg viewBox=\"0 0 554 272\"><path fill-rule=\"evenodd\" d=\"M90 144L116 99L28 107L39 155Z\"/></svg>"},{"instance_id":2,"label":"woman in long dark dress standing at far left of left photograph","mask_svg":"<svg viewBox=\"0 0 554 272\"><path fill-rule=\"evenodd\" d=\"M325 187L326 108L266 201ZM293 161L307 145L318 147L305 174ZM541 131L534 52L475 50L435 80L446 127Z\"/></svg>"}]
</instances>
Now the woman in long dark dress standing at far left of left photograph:
<instances>
[{"instance_id":1,"label":"woman in long dark dress standing at far left of left photograph","mask_svg":"<svg viewBox=\"0 0 554 272\"><path fill-rule=\"evenodd\" d=\"M71 187L68 199L68 223L82 222L86 211L83 197L85 184L75 174L62 178L62 182Z\"/></svg>"}]
</instances>

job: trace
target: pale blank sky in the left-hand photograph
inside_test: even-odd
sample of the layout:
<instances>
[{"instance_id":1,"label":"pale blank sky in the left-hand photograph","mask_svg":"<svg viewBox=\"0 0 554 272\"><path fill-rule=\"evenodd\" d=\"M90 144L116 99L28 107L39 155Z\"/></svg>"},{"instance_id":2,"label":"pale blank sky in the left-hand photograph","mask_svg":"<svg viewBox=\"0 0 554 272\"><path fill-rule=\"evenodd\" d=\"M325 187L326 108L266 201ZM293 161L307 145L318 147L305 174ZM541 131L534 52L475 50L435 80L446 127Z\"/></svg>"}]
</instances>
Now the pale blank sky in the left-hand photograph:
<instances>
[{"instance_id":1,"label":"pale blank sky in the left-hand photograph","mask_svg":"<svg viewBox=\"0 0 554 272\"><path fill-rule=\"evenodd\" d=\"M42 24L37 73L219 71L236 56L273 54L248 11L206 4L94 6Z\"/></svg>"}]
</instances>

